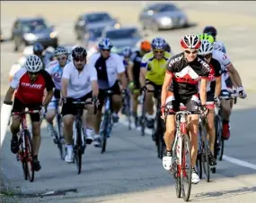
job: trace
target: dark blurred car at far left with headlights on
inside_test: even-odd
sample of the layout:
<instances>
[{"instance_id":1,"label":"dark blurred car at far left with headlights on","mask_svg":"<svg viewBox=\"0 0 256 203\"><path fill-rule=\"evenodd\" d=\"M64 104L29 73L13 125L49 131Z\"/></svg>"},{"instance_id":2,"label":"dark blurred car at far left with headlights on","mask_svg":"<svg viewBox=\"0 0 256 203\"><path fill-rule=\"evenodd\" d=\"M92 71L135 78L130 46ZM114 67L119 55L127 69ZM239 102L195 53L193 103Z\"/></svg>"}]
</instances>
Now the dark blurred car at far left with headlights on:
<instances>
[{"instance_id":1,"label":"dark blurred car at far left with headlights on","mask_svg":"<svg viewBox=\"0 0 256 203\"><path fill-rule=\"evenodd\" d=\"M32 46L40 42L42 46L57 47L57 30L41 17L18 18L13 23L12 38L14 41L14 51L18 51L22 46Z\"/></svg>"}]
</instances>

